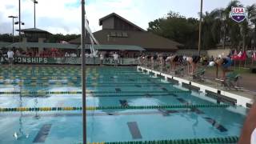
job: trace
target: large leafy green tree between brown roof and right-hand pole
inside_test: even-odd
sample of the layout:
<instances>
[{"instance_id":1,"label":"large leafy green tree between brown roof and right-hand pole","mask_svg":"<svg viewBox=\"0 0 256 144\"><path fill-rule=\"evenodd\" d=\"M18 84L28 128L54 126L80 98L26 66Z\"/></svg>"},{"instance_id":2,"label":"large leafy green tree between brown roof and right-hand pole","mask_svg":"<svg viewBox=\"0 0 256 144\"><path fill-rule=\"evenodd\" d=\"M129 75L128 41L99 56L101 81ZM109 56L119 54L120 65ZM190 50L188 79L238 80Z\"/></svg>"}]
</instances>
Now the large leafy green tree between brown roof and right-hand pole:
<instances>
[{"instance_id":1,"label":"large leafy green tree between brown roof and right-hand pole","mask_svg":"<svg viewBox=\"0 0 256 144\"><path fill-rule=\"evenodd\" d=\"M158 18L149 22L149 32L169 38L186 45L192 49L197 46L198 20L185 18L184 16L170 11L164 18Z\"/></svg>"}]
</instances>

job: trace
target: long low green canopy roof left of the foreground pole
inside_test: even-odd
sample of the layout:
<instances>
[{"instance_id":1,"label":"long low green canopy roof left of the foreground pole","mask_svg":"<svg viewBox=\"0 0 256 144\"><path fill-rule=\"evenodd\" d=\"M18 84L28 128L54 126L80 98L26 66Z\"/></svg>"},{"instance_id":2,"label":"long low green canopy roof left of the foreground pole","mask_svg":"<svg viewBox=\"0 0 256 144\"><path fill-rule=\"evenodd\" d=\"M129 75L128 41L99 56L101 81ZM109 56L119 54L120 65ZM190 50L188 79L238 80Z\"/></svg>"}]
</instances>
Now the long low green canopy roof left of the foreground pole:
<instances>
[{"instance_id":1,"label":"long low green canopy roof left of the foreground pole","mask_svg":"<svg viewBox=\"0 0 256 144\"><path fill-rule=\"evenodd\" d=\"M15 42L6 46L13 47L43 47L43 48L58 48L58 49L77 49L78 45L63 44L63 43L44 43L44 42Z\"/></svg>"}]
</instances>

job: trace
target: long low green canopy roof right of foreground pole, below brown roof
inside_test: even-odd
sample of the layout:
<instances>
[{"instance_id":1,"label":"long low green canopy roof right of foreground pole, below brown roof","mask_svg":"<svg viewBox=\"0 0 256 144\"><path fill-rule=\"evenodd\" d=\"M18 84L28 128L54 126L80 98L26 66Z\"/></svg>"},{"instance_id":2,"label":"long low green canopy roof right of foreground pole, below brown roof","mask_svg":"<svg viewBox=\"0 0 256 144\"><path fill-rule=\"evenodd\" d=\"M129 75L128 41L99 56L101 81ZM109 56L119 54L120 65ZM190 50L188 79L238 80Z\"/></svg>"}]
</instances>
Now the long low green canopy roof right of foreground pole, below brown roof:
<instances>
[{"instance_id":1,"label":"long low green canopy roof right of foreground pole, below brown roof","mask_svg":"<svg viewBox=\"0 0 256 144\"><path fill-rule=\"evenodd\" d=\"M143 51L140 46L124 46L124 45L95 45L95 50L134 50L134 51ZM78 47L81 49L81 46ZM90 49L89 45L86 46L86 49Z\"/></svg>"}]
</instances>

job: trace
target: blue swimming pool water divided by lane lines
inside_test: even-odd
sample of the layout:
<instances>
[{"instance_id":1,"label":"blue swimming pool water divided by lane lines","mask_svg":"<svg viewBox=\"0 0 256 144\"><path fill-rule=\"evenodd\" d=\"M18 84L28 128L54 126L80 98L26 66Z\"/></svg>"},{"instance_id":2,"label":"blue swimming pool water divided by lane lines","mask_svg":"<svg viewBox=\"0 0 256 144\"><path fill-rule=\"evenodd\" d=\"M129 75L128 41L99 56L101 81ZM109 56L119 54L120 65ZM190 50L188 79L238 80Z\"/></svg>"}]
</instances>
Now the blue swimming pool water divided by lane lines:
<instances>
[{"instance_id":1,"label":"blue swimming pool water divided by lane lines","mask_svg":"<svg viewBox=\"0 0 256 144\"><path fill-rule=\"evenodd\" d=\"M0 70L0 143L82 142L80 67ZM238 137L246 116L135 67L88 67L86 94L88 142Z\"/></svg>"}]
</instances>

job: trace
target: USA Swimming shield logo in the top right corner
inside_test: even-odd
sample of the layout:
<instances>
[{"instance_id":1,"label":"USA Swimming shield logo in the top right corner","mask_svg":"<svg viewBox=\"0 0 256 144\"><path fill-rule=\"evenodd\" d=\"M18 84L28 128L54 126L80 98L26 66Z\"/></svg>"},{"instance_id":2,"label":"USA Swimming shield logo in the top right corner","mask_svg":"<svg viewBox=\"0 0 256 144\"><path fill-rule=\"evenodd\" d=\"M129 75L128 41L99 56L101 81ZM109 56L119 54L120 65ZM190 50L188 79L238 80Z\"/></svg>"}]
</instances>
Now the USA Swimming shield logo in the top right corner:
<instances>
[{"instance_id":1,"label":"USA Swimming shield logo in the top right corner","mask_svg":"<svg viewBox=\"0 0 256 144\"><path fill-rule=\"evenodd\" d=\"M232 7L230 11L230 18L235 22L242 22L247 18L246 9L244 7Z\"/></svg>"}]
</instances>

